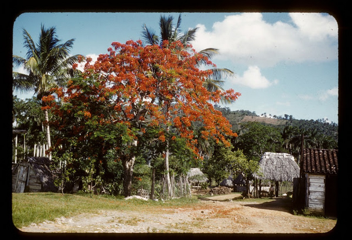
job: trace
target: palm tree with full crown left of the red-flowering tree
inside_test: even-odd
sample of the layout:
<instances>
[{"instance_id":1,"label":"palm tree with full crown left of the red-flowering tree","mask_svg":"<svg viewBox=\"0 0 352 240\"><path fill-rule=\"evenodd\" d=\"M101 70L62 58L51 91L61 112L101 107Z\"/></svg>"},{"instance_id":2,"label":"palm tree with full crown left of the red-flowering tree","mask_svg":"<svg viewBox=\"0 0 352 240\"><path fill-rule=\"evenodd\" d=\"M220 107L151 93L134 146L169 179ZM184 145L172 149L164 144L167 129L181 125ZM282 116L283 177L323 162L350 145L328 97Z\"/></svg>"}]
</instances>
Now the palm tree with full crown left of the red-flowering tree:
<instances>
[{"instance_id":1,"label":"palm tree with full crown left of the red-flowering tree","mask_svg":"<svg viewBox=\"0 0 352 240\"><path fill-rule=\"evenodd\" d=\"M34 43L31 35L24 29L24 46L27 49L26 57L13 55L13 64L22 65L27 74L13 72L13 88L28 92L34 90L37 98L52 94L53 87L62 87L70 76L79 71L72 65L77 62L78 56L69 56L74 39L60 44L55 27L45 29L41 26L38 43ZM45 103L42 102L45 107ZM47 144L50 149L50 128L48 110L44 110ZM51 159L51 153L49 153Z\"/></svg>"}]
</instances>

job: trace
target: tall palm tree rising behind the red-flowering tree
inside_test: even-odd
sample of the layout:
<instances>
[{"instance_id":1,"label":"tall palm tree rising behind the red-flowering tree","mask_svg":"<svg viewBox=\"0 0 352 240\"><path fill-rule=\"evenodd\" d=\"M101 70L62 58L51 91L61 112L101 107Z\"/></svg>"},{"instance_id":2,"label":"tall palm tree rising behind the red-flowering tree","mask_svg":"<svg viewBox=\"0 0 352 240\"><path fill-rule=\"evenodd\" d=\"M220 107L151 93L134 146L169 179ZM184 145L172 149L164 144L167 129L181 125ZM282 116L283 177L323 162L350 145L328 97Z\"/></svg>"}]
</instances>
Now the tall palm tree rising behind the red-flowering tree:
<instances>
[{"instance_id":1,"label":"tall palm tree rising behind the red-flowering tree","mask_svg":"<svg viewBox=\"0 0 352 240\"><path fill-rule=\"evenodd\" d=\"M155 34L154 31L148 29L146 25L143 25L142 37L146 44L150 45L160 45L163 47L164 40L168 40L169 42L180 41L185 47L195 40L195 33L197 28L193 28L190 30L181 33L180 25L181 25L181 14L178 16L177 23L173 25L174 18L172 16L165 17L161 16L159 21L160 26L160 38ZM207 48L200 51L204 56L207 56L209 59L212 58L215 54L218 54L218 49L215 48ZM199 66L203 64L203 62L198 63ZM216 90L224 90L222 88L221 78L232 75L233 72L229 69L212 69L212 74L210 74L205 81L203 82L203 86L208 89L208 91L216 91ZM221 99L222 102L230 103L231 100L226 100L225 98ZM170 103L166 104L169 106ZM167 108L167 107L166 107ZM166 112L168 109L166 109ZM169 132L169 126L166 127L166 132ZM170 183L170 175L169 175L169 142L166 139L166 148L165 148L165 172L166 172L166 182L168 184L169 196L172 196L171 183Z\"/></svg>"}]
</instances>

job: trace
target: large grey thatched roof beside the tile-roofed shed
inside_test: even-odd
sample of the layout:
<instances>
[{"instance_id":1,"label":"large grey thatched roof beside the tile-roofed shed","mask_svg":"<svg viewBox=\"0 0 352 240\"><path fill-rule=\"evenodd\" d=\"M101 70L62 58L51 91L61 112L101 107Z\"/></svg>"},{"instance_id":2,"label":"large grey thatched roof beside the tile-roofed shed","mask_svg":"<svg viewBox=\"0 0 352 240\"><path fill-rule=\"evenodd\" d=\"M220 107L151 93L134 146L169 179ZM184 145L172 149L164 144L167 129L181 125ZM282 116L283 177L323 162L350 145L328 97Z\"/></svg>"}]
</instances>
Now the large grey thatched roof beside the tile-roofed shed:
<instances>
[{"instance_id":1,"label":"large grey thatched roof beside the tile-roofed shed","mask_svg":"<svg viewBox=\"0 0 352 240\"><path fill-rule=\"evenodd\" d=\"M254 177L279 182L293 181L293 178L300 176L300 168L295 158L288 153L265 152L259 160L259 171L262 176Z\"/></svg>"}]
</instances>

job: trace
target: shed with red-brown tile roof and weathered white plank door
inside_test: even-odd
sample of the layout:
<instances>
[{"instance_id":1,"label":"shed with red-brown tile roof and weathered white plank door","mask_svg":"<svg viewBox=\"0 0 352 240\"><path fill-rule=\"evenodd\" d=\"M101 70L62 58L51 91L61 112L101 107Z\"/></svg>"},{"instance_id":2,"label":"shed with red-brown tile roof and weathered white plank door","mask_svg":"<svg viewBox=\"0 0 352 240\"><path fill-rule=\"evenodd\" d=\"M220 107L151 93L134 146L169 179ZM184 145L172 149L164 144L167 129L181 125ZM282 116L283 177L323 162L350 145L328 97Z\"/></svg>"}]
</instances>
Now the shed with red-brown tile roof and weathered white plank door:
<instances>
[{"instance_id":1,"label":"shed with red-brown tile roof and weathered white plank door","mask_svg":"<svg viewBox=\"0 0 352 240\"><path fill-rule=\"evenodd\" d=\"M303 149L300 178L294 184L295 205L315 214L337 216L338 170L338 150Z\"/></svg>"}]
</instances>

